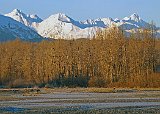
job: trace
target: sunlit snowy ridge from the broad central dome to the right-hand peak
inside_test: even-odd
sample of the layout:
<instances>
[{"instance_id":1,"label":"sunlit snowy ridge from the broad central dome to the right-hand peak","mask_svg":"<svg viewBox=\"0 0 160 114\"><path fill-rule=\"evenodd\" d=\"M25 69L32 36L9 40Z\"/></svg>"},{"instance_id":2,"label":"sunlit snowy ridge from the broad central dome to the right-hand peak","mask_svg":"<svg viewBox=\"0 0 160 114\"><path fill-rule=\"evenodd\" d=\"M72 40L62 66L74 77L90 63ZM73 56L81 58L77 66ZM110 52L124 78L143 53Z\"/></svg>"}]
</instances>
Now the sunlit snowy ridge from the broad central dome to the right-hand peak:
<instances>
[{"instance_id":1,"label":"sunlit snowy ridge from the broad central dome to the right-hand peak","mask_svg":"<svg viewBox=\"0 0 160 114\"><path fill-rule=\"evenodd\" d=\"M112 26L122 27L128 32L149 27L150 24L143 21L136 13L122 20L118 18L98 18L85 21L75 21L69 16L59 13L39 23L36 30L40 35L49 38L92 38L98 30Z\"/></svg>"}]
</instances>

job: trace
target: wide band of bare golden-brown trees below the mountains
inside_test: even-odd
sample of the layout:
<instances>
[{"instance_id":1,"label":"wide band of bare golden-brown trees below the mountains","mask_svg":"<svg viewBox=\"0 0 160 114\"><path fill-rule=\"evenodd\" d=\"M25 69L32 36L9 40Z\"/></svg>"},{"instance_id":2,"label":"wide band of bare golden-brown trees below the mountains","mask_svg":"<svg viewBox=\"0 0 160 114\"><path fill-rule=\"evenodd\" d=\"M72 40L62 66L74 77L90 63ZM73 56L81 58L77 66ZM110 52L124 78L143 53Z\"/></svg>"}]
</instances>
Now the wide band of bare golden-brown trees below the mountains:
<instances>
[{"instance_id":1,"label":"wide band of bare golden-brown trees below the mountains","mask_svg":"<svg viewBox=\"0 0 160 114\"><path fill-rule=\"evenodd\" d=\"M0 85L160 87L160 40L152 30L125 37L112 28L93 39L0 44Z\"/></svg>"}]
</instances>

